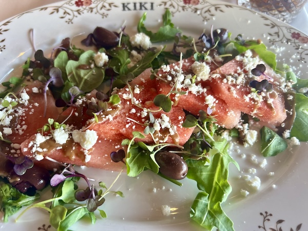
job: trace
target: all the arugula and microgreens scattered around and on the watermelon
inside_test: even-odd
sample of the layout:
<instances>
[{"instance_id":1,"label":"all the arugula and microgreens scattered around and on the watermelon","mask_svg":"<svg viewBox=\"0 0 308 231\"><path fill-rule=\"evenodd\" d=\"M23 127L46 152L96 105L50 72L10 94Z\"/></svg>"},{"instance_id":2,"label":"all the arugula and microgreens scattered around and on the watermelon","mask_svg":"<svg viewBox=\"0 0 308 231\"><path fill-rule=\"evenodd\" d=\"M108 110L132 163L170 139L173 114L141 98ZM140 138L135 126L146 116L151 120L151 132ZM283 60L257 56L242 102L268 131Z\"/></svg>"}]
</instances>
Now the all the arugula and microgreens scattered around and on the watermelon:
<instances>
[{"instance_id":1,"label":"all the arugula and microgreens scattered around and on the watermelon","mask_svg":"<svg viewBox=\"0 0 308 231\"><path fill-rule=\"evenodd\" d=\"M129 36L123 33L119 46L109 49L99 49L99 53L104 52L108 54L110 59L105 67L99 67L93 63L93 58L97 52L93 50L84 51L76 47L71 47L70 44L67 45L66 41L66 43L62 44L65 50L57 53L53 60L54 69L51 69L49 72L45 71L46 69L44 68L49 67L51 64L50 60L44 56L43 51L37 50L34 57L35 61L30 61L30 59L26 61L23 67L24 72L22 78L12 77L8 82L2 83L7 87L7 90L1 93L0 97L5 97L9 92L14 91L16 87L21 86L25 80L25 76L29 75L29 70L31 70L33 79L47 83L46 88L48 86L50 87L54 97L64 101L64 106L70 106L76 102L76 99L80 95L90 92L102 83L110 81L110 88L129 86L129 81L147 68L159 68L162 65L168 64L169 59L181 60L182 56L176 49L179 47L186 48L183 54L184 57L194 55L196 60L206 59L206 56L211 50L217 49L221 57L224 58L224 62L233 59L236 55L248 49L252 49L268 66L276 70L276 55L268 51L266 46L259 41L245 41L241 35L238 35L235 40L232 40L231 34L228 33L229 41L219 36L214 39L213 37L202 34L199 40L195 42L191 37L182 35L181 31L172 24L171 13L168 10L163 15L163 26L157 32L149 31L145 27L145 20L146 14L141 17L138 23L138 31L148 35L152 43L174 42L174 49L172 51L165 51L165 47L150 48L140 60L133 62ZM202 48L207 48L208 50L205 53L198 52L196 46L203 46ZM42 65L38 65L38 63L41 63L43 67ZM263 74L263 72L263 67L261 67L261 70L256 70L256 74ZM155 78L155 70L152 70L152 75ZM298 79L291 71L286 72L286 79L293 81L293 88L296 91L294 98L294 113L296 115L290 135L300 141L308 141L307 91L301 92L302 88L308 86L308 81ZM194 81L193 78L192 81ZM266 85L266 88L272 87L268 85L268 82L263 84ZM251 86L255 89L256 93L261 92L264 88L263 85L255 82L251 83ZM155 98L154 104L166 112L170 111L172 108L172 102L169 97L171 93L181 95L185 92L177 92L177 89L174 89L174 91L170 91L167 95L159 94ZM120 98L114 94L108 102L118 104L120 103ZM3 102L2 105L4 107L10 106L8 102ZM92 112L94 117L97 115L97 111L104 110L106 107L108 108L108 105L106 105L107 101L103 100L100 105L94 105L96 110ZM151 113L149 114L150 121L148 124L145 124L144 134L152 135L155 129L152 126L153 118L151 118ZM95 118L97 119L97 117ZM59 123L49 120L46 127L44 127L44 131L45 129L48 130L48 128L51 128L51 125L60 126ZM209 230L215 227L219 230L234 230L233 222L224 213L221 204L227 200L232 190L232 187L227 181L229 164L234 164L238 169L239 166L228 153L227 140L219 137L219 133L222 132L221 129L223 128L218 127L215 117L211 116L210 109L206 112L200 111L198 118L188 114L183 123L183 127L195 127L194 133L184 147L167 143L148 145L140 141L137 142L136 139L143 139L144 134L134 131L132 139L122 141L122 145L127 147L125 161L125 155L123 156L122 152L113 153L111 158L114 156L117 159L114 162L125 163L127 175L130 177L136 177L148 169L162 176L159 172L160 166L156 161L156 153L165 150L169 146L178 148L175 152L183 157L188 166L187 177L195 180L200 190L191 206L190 217ZM261 128L260 133L262 139L260 152L264 157L275 156L286 149L286 141L273 130L264 126ZM234 137L239 137L239 130L232 129L230 130L230 134ZM163 177L175 184L181 185L176 180ZM81 178L85 179L88 184L86 189L78 188L77 183ZM105 196L111 192L110 187L107 188L104 183L100 182L100 190L97 190L89 184L87 177L74 171L72 166L66 166L61 174L53 175L51 178L51 186L53 198L32 204L38 199L39 194L35 196L23 195L8 183L1 181L0 209L5 213L4 220L7 221L8 217L22 206L28 206L30 204L32 205L24 210L23 213L33 207L45 209L50 213L50 224L61 231L68 230L72 224L84 216L88 216L91 222L95 223L95 210L98 210L101 217L107 217L104 210L98 209L105 202ZM114 193L121 197L124 196L120 191Z\"/></svg>"}]
</instances>

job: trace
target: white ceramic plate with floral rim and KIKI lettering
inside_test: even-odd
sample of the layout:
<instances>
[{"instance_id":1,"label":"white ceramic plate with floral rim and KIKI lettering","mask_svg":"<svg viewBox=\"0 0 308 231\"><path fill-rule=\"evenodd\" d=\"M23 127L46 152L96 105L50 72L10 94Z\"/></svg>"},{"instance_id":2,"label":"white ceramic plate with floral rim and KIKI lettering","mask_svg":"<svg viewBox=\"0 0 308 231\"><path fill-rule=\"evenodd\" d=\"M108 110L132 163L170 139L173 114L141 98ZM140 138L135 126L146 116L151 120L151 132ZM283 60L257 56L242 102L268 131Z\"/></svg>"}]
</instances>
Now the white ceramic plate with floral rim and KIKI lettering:
<instances>
[{"instance_id":1,"label":"white ceramic plate with floral rim and KIKI lettering","mask_svg":"<svg viewBox=\"0 0 308 231\"><path fill-rule=\"evenodd\" d=\"M260 38L268 47L276 49L281 62L293 66L301 78L307 76L307 35L268 16L214 0L73 0L25 12L0 23L0 76L2 80L12 75L19 76L21 65L28 57L33 57L29 38L31 28L34 29L35 47L48 52L63 38L83 32L86 36L96 26L118 30L125 23L126 32L132 35L137 32L137 22L144 12L147 12L146 25L158 28L165 8L172 12L172 22L185 34L198 37L213 25L214 28L226 28L233 35L241 33L243 37ZM259 164L264 158L259 154L258 146L244 149L233 145L233 157L239 162L241 171L230 166L229 181L233 192L223 207L234 221L235 230L308 230L307 148L308 145L303 143L293 147L292 151L267 158L263 169ZM243 153L246 158L241 157ZM251 160L251 155L256 155L258 163ZM252 168L256 169L256 174L249 173ZM118 174L98 169L83 171L88 177L107 185ZM269 172L274 172L274 176L269 176ZM239 179L243 175L260 177L261 188L257 192L249 188L243 179ZM95 225L84 220L71 229L199 229L189 221L190 205L198 192L196 184L188 179L183 183L180 188L151 172L145 172L137 179L122 174L113 189L123 191L125 198L106 197L102 209L108 218L98 219ZM244 197L240 189L246 189L250 194ZM48 197L48 192L44 197ZM162 215L161 205L171 207L170 216ZM28 211L17 223L14 218L8 223L0 223L0 230L37 229L53 230L49 226L48 214L38 209Z\"/></svg>"}]
</instances>

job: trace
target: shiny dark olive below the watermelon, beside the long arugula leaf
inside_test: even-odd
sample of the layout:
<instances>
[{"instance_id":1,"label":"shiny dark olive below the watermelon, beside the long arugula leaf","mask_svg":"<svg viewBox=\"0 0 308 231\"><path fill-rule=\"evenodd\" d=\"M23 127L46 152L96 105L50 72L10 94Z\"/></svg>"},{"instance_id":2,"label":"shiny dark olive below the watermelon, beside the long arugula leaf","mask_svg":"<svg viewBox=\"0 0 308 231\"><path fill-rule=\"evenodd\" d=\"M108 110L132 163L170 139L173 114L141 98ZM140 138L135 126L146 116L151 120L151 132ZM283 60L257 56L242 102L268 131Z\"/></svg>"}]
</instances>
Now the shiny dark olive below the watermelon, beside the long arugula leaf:
<instances>
[{"instance_id":1,"label":"shiny dark olive below the watermelon, beside the long arugula leaf","mask_svg":"<svg viewBox=\"0 0 308 231\"><path fill-rule=\"evenodd\" d=\"M161 174L175 180L186 177L188 166L182 157L173 152L161 151L156 153L155 160L160 166Z\"/></svg>"}]
</instances>

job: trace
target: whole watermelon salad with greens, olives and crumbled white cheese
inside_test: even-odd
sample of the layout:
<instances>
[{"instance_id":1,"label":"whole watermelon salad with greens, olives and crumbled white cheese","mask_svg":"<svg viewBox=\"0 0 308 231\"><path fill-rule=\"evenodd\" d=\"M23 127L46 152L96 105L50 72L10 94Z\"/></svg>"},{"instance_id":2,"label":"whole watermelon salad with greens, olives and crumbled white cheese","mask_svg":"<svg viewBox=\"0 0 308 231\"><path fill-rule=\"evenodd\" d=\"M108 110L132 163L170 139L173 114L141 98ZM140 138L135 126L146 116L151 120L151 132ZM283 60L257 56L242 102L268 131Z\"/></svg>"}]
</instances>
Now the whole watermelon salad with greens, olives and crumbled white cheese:
<instances>
[{"instance_id":1,"label":"whole watermelon salad with greens, olives and crumbled white cheese","mask_svg":"<svg viewBox=\"0 0 308 231\"><path fill-rule=\"evenodd\" d=\"M287 65L278 70L262 41L224 28L192 38L168 10L156 32L145 20L132 36L97 27L79 47L65 38L50 57L36 50L20 78L2 83L4 221L24 206L23 213L45 209L57 230L85 215L106 217L99 206L110 187L91 185L78 165L125 167L130 177L151 170L178 185L195 180L201 192L190 217L208 230L234 230L221 208L231 191L228 166L239 169L226 136L244 147L260 137L268 158L307 141L308 82ZM76 186L80 179L87 188ZM258 178L251 184L260 186ZM53 197L35 202L49 185Z\"/></svg>"}]
</instances>

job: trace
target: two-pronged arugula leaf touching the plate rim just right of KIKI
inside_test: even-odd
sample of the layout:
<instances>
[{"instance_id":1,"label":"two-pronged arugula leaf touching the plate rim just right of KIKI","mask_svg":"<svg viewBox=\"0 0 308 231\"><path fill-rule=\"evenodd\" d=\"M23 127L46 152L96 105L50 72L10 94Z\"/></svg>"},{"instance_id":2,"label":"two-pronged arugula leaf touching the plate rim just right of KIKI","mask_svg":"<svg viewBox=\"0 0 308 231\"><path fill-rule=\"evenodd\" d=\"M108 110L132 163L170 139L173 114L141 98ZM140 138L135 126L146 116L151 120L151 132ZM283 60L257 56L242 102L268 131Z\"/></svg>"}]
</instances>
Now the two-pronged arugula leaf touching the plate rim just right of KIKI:
<instances>
[{"instance_id":1,"label":"two-pronged arugula leaf touching the plate rim just right of KIKI","mask_svg":"<svg viewBox=\"0 0 308 231\"><path fill-rule=\"evenodd\" d=\"M145 28L146 13L144 13L138 23L138 32L148 35L152 43L174 40L175 35L181 31L171 23L171 17L172 15L167 9L163 14L163 26L156 33L153 33Z\"/></svg>"}]
</instances>

